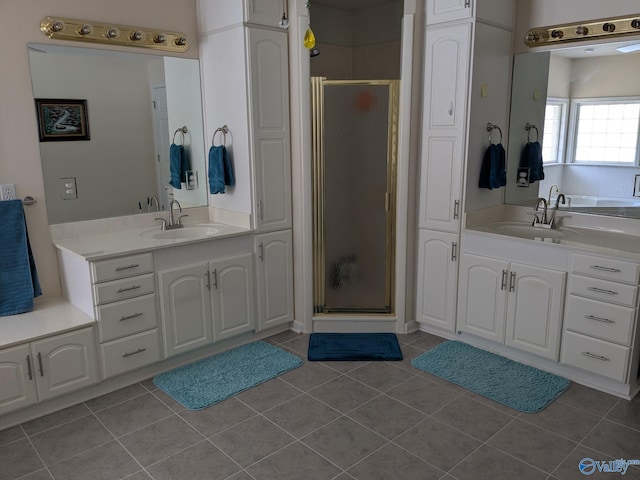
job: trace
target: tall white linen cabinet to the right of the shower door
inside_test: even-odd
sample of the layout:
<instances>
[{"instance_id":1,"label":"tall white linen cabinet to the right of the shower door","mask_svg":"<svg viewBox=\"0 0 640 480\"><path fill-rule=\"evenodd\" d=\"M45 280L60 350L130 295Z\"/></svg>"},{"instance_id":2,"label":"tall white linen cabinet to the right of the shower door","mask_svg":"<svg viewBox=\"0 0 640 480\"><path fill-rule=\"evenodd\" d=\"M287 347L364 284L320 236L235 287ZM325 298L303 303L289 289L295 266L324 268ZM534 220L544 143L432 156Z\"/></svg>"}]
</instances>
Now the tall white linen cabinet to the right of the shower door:
<instances>
[{"instance_id":1,"label":"tall white linen cabinet to the right of the shower door","mask_svg":"<svg viewBox=\"0 0 640 480\"><path fill-rule=\"evenodd\" d=\"M415 313L436 333L456 331L465 192L478 181L465 185L468 164L488 122L507 128L514 3L426 2Z\"/></svg>"}]
</instances>

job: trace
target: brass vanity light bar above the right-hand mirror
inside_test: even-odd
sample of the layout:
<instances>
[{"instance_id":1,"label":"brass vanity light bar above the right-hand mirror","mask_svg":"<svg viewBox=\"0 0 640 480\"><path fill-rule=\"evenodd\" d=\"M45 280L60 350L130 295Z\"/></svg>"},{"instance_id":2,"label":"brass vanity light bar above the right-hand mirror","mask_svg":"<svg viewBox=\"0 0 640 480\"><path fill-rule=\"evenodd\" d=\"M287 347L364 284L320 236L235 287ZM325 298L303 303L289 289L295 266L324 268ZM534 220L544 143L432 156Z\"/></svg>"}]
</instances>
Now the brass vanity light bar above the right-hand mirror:
<instances>
[{"instance_id":1,"label":"brass vanity light bar above the right-hand mirror","mask_svg":"<svg viewBox=\"0 0 640 480\"><path fill-rule=\"evenodd\" d=\"M632 17L603 18L582 23L533 28L525 35L524 43L529 47L539 47L555 43L631 35L640 35L640 14Z\"/></svg>"}]
</instances>

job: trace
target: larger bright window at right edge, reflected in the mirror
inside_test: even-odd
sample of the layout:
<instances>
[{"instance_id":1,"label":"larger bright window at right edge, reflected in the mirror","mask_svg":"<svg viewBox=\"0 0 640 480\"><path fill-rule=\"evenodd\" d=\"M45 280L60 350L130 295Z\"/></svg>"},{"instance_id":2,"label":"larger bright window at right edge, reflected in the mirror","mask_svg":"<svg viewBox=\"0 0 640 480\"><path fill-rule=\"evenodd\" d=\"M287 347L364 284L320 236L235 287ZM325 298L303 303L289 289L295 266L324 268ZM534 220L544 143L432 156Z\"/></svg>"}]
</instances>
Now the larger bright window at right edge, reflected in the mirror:
<instances>
[{"instance_id":1,"label":"larger bright window at right edge, reflected in the mirror","mask_svg":"<svg viewBox=\"0 0 640 480\"><path fill-rule=\"evenodd\" d=\"M575 163L638 165L640 99L573 100Z\"/></svg>"}]
</instances>

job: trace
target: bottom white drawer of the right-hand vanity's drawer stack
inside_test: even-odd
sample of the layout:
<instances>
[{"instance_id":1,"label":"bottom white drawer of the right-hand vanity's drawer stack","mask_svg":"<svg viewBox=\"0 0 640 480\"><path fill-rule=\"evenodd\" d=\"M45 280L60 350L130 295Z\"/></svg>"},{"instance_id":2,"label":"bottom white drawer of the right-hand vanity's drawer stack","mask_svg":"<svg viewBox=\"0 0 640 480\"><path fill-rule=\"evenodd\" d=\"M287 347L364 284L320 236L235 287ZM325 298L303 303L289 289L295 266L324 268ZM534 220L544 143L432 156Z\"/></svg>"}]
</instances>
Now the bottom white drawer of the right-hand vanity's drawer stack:
<instances>
[{"instance_id":1,"label":"bottom white drawer of the right-hand vanity's drawer stack","mask_svg":"<svg viewBox=\"0 0 640 480\"><path fill-rule=\"evenodd\" d=\"M624 382L627 376L628 358L627 347L578 333L564 333L562 363Z\"/></svg>"}]
</instances>

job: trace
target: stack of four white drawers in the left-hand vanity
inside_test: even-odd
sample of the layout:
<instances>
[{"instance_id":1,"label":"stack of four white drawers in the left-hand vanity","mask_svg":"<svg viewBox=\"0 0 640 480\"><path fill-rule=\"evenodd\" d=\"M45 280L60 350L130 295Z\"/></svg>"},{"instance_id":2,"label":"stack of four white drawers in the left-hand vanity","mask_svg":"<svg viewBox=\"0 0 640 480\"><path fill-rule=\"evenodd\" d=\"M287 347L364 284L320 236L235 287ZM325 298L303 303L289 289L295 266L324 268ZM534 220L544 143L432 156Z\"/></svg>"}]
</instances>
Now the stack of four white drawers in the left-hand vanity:
<instances>
[{"instance_id":1,"label":"stack of four white drawers in the left-hand vanity","mask_svg":"<svg viewBox=\"0 0 640 480\"><path fill-rule=\"evenodd\" d=\"M160 361L153 254L91 262L90 268L102 377Z\"/></svg>"}]
</instances>

